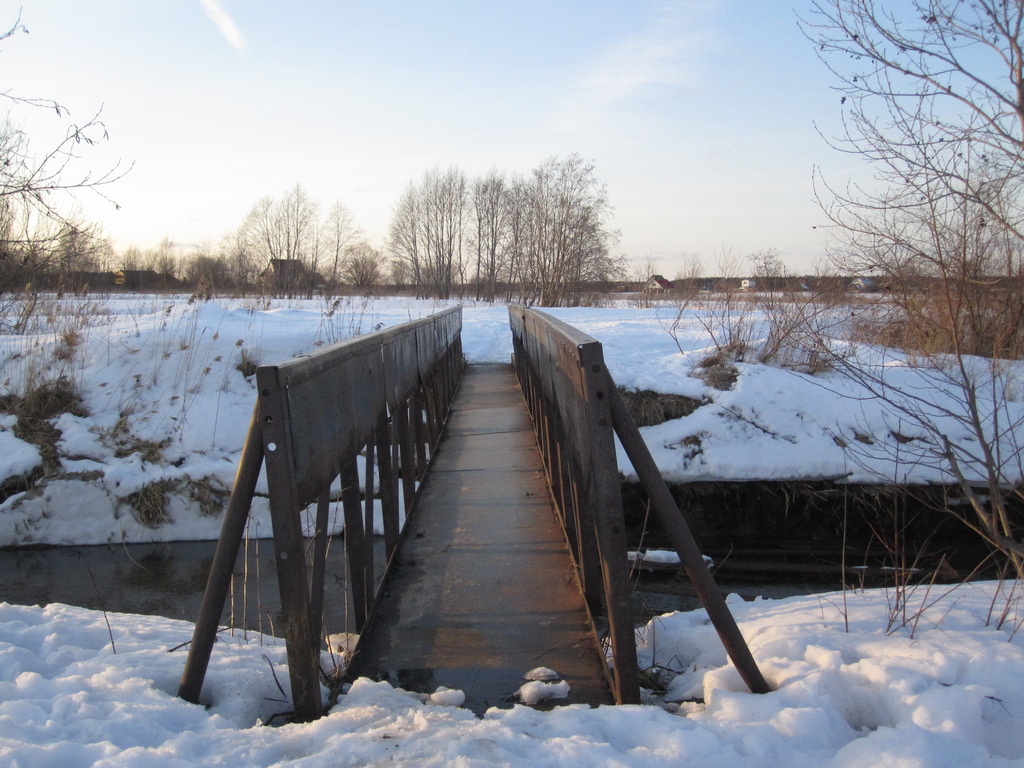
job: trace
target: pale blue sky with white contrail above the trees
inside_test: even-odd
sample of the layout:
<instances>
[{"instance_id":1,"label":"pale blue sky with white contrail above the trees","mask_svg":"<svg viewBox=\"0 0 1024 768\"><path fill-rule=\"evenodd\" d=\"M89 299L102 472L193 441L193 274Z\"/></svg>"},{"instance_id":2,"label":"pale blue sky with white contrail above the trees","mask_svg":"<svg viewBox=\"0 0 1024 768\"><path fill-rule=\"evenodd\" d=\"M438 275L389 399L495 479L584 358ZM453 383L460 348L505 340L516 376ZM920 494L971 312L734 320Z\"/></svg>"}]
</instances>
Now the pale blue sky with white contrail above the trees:
<instances>
[{"instance_id":1,"label":"pale blue sky with white contrail above the trees","mask_svg":"<svg viewBox=\"0 0 1024 768\"><path fill-rule=\"evenodd\" d=\"M429 169L528 173L575 153L607 185L618 248L668 276L776 249L825 259L812 177L856 172L820 132L831 76L807 0L0 0L2 89L54 99L108 138L69 172L127 173L69 203L119 250L217 244L301 184L382 246ZM10 119L37 152L68 123ZM49 142L49 143L48 143Z\"/></svg>"}]
</instances>

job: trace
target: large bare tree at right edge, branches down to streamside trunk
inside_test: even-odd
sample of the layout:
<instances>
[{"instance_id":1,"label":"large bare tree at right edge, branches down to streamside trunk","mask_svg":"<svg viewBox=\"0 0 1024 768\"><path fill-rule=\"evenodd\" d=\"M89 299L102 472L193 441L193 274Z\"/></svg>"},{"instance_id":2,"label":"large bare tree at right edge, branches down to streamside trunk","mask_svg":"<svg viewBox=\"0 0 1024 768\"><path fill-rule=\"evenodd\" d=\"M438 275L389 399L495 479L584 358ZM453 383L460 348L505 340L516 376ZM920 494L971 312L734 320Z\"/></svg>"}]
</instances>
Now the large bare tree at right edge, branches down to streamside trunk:
<instances>
[{"instance_id":1,"label":"large bare tree at right edge, branches down to streamside trunk","mask_svg":"<svg viewBox=\"0 0 1024 768\"><path fill-rule=\"evenodd\" d=\"M817 0L803 24L845 104L833 144L877 169L866 187L822 186L835 259L883 282L886 341L955 404L894 387L886 367L840 368L928 435L916 459L967 502L949 511L971 510L965 521L1022 575L1008 509L1024 500L1024 417L1000 358L1024 353L1024 2Z\"/></svg>"}]
</instances>

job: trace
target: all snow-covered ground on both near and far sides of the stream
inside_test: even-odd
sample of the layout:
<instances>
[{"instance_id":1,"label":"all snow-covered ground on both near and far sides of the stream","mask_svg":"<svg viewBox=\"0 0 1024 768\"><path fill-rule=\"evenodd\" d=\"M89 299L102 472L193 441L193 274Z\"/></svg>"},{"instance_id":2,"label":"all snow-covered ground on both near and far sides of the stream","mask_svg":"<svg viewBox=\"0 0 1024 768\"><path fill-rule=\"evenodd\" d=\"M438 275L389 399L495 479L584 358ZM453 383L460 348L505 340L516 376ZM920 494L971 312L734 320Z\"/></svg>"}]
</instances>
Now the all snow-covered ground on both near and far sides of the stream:
<instances>
[{"instance_id":1,"label":"all snow-covered ground on both near and far sides of the stream","mask_svg":"<svg viewBox=\"0 0 1024 768\"><path fill-rule=\"evenodd\" d=\"M0 337L0 395L63 376L84 407L57 422L56 473L0 504L0 546L215 538L219 520L195 499L230 486L255 397L240 364L280 361L441 308L135 297L92 302L80 324L76 301L49 309L56 333ZM907 425L838 377L740 364L735 385L719 390L691 375L710 347L699 324L684 327L681 352L665 330L671 309L553 313L604 343L620 385L707 401L644 430L670 479L942 479L928 463L894 464L885 441L905 439ZM464 322L470 362L508 359L504 307L468 305ZM900 376L898 357L887 360ZM1011 391L1007 408L1019 407ZM14 420L0 415L0 483L43 461L14 436ZM953 439L967 439L954 426ZM878 450L851 456L852 444ZM157 482L168 519L154 527L133 504ZM260 724L289 709L273 638L224 636L208 706L196 707L174 695L190 625L2 603L0 765L1024 766L1024 613L1016 592L997 589L732 599L776 688L761 696L745 692L698 610L641 631L642 664L672 678L665 700L520 706L478 719L358 681L323 720L281 727Z\"/></svg>"}]
</instances>

